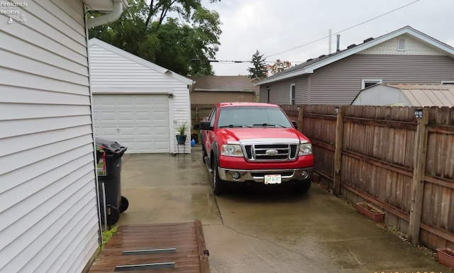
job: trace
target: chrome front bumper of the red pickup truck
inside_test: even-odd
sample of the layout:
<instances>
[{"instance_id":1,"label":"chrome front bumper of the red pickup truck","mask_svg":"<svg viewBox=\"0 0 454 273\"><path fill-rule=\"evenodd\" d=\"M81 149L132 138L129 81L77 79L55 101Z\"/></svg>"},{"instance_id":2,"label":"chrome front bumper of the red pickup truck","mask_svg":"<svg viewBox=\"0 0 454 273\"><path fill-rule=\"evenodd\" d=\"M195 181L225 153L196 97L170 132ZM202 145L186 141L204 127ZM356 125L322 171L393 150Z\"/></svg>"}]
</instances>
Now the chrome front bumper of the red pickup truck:
<instances>
[{"instance_id":1,"label":"chrome front bumper of the red pickup truck","mask_svg":"<svg viewBox=\"0 0 454 273\"><path fill-rule=\"evenodd\" d=\"M281 182L310 181L314 174L313 167L301 169L225 169L218 167L219 178L228 182L265 183L265 175L280 174ZM234 178L235 177L235 178ZM237 178L238 177L238 178Z\"/></svg>"}]
</instances>

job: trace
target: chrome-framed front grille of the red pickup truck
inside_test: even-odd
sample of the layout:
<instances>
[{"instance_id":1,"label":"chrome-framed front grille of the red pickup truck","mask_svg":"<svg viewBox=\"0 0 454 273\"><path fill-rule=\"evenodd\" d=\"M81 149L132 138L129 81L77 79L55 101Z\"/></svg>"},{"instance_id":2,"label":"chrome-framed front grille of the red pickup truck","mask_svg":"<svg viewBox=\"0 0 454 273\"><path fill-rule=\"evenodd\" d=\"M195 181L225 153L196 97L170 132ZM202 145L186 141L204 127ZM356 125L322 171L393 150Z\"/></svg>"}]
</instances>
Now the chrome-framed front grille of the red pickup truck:
<instances>
[{"instance_id":1,"label":"chrome-framed front grille of the red pickup truck","mask_svg":"<svg viewBox=\"0 0 454 273\"><path fill-rule=\"evenodd\" d=\"M247 160L294 160L297 157L297 144L255 144L244 145Z\"/></svg>"}]
</instances>

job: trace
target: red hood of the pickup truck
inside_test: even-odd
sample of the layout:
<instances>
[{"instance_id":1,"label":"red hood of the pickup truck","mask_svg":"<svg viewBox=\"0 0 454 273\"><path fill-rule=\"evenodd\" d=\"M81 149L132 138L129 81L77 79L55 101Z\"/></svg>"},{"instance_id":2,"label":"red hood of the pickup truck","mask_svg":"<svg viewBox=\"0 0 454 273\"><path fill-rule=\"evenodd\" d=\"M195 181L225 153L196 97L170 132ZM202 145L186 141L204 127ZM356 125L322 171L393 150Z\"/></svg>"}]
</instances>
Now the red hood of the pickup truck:
<instances>
[{"instance_id":1,"label":"red hood of the pickup truck","mask_svg":"<svg viewBox=\"0 0 454 273\"><path fill-rule=\"evenodd\" d=\"M227 143L247 140L282 139L310 142L306 136L294 128L222 128L218 130Z\"/></svg>"}]
</instances>

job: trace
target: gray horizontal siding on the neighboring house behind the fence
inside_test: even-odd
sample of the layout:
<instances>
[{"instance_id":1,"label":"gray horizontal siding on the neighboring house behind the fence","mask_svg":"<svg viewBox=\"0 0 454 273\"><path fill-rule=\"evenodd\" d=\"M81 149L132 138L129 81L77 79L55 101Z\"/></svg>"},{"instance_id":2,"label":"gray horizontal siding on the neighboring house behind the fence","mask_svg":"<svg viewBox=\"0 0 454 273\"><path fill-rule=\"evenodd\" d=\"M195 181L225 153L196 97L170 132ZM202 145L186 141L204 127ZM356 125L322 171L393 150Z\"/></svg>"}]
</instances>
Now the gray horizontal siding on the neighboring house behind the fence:
<instances>
[{"instance_id":1,"label":"gray horizontal siding on the neighboring house behind the fence","mask_svg":"<svg viewBox=\"0 0 454 273\"><path fill-rule=\"evenodd\" d=\"M362 79L382 79L384 84L439 84L452 80L453 74L454 60L448 56L357 54L316 69L313 74L268 86L270 102L275 104L289 104L292 83L297 89L296 104L350 104L361 90Z\"/></svg>"}]
</instances>

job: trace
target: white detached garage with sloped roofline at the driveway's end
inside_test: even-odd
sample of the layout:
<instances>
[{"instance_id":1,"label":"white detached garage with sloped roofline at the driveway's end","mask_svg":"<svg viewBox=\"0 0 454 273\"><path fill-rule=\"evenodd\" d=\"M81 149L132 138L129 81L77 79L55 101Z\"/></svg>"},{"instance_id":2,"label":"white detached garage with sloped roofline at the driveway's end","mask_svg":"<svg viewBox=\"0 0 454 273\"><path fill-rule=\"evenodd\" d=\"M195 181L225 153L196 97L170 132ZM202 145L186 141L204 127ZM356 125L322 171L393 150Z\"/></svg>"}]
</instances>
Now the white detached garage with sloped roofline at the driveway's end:
<instances>
[{"instance_id":1,"label":"white detached garage with sloped roofline at the driveway's end","mask_svg":"<svg viewBox=\"0 0 454 273\"><path fill-rule=\"evenodd\" d=\"M97 137L131 153L191 151L189 138L177 146L175 123L191 128L192 79L95 38L89 66Z\"/></svg>"}]
</instances>

